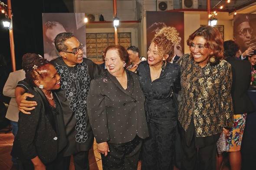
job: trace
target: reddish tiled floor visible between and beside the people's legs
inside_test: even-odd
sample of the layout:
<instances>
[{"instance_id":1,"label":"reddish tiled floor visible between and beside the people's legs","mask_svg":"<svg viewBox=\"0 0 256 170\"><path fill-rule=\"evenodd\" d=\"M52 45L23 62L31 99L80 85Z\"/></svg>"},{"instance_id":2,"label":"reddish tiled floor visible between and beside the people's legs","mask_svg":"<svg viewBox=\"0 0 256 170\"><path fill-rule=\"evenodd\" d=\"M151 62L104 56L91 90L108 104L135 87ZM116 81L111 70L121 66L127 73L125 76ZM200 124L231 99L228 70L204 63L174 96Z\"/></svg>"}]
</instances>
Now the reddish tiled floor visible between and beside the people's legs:
<instances>
[{"instance_id":1,"label":"reddish tiled floor visible between and beside the people's legs","mask_svg":"<svg viewBox=\"0 0 256 170\"><path fill-rule=\"evenodd\" d=\"M1 129L0 131L0 170L12 169L10 152L13 146L13 134L11 132L3 132L7 130L8 129ZM90 170L102 170L101 155L97 152L97 145L95 142L93 148L89 151L89 164ZM75 170L72 159L69 170ZM138 170L141 170L140 162L138 164Z\"/></svg>"}]
</instances>

